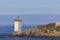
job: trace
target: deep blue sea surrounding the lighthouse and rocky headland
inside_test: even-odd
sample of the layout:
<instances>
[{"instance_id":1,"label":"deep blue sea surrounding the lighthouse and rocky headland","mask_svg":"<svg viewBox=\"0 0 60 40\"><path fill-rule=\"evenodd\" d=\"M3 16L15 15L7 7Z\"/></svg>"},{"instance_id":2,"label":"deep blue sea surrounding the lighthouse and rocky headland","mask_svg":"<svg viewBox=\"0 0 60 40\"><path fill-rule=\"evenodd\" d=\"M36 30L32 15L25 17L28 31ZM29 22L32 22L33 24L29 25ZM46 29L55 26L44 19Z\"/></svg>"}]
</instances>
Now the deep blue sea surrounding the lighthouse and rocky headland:
<instances>
[{"instance_id":1,"label":"deep blue sea surrounding the lighthouse and rocky headland","mask_svg":"<svg viewBox=\"0 0 60 40\"><path fill-rule=\"evenodd\" d=\"M37 27L36 25L23 25L22 31ZM13 25L0 25L0 40L60 40L53 37L11 37L8 36L14 32Z\"/></svg>"}]
</instances>

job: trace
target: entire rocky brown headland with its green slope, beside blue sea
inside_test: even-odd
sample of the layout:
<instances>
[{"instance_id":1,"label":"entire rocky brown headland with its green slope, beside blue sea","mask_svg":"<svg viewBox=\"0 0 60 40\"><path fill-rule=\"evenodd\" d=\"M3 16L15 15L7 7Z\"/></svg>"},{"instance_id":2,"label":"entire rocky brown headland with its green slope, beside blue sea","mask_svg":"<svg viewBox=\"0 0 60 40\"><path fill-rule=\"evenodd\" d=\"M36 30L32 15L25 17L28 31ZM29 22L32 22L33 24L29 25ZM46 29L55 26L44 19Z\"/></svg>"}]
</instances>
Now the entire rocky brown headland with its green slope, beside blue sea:
<instances>
[{"instance_id":1,"label":"entire rocky brown headland with its green slope, beside blue sea","mask_svg":"<svg viewBox=\"0 0 60 40\"><path fill-rule=\"evenodd\" d=\"M37 28L33 28L30 30L24 30L21 34L17 34L16 32L12 33L10 36L13 37L60 37L60 30L57 31L58 28L55 28L54 25L42 25Z\"/></svg>"}]
</instances>

